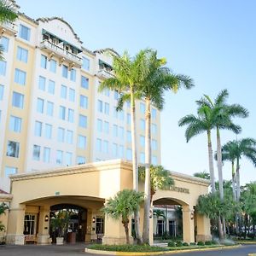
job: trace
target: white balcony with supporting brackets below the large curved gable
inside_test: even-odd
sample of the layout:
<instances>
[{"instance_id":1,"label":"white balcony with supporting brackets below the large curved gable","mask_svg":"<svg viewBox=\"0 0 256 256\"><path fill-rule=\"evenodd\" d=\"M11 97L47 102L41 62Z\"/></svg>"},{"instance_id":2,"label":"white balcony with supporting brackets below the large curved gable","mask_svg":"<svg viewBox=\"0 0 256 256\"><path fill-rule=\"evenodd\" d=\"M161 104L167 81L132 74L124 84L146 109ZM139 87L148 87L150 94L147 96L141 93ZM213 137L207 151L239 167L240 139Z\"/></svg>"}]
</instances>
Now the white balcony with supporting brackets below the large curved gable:
<instances>
[{"instance_id":1,"label":"white balcony with supporting brackets below the large curved gable","mask_svg":"<svg viewBox=\"0 0 256 256\"><path fill-rule=\"evenodd\" d=\"M40 48L47 51L49 53L50 58L53 55L58 56L60 58L61 63L63 61L67 61L67 63L70 63L75 67L82 66L82 58L80 58L79 55L75 55L67 49L63 49L60 46L49 42L49 40L42 41L40 43Z\"/></svg>"}]
</instances>

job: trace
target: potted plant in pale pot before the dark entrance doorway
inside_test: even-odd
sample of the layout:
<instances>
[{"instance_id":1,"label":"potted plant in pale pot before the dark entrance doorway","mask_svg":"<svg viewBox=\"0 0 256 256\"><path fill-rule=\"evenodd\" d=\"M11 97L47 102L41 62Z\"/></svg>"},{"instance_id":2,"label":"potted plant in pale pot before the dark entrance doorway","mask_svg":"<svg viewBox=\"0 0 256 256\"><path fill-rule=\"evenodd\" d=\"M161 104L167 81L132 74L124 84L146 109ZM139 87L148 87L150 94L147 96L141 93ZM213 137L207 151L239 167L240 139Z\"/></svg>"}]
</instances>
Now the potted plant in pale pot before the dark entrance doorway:
<instances>
[{"instance_id":1,"label":"potted plant in pale pot before the dark entrance doorway","mask_svg":"<svg viewBox=\"0 0 256 256\"><path fill-rule=\"evenodd\" d=\"M63 244L65 230L67 230L69 221L69 214L65 210L55 212L54 216L50 219L52 230L56 234L56 245Z\"/></svg>"}]
</instances>

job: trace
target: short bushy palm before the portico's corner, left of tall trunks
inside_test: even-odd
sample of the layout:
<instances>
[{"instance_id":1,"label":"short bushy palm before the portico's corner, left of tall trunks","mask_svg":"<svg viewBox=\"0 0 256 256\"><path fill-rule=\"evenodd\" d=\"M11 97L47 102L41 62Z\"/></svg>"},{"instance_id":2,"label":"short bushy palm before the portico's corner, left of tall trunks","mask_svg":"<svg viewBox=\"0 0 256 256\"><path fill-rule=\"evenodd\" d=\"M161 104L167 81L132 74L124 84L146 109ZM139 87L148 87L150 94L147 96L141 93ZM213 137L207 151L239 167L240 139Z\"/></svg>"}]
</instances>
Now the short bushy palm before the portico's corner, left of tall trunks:
<instances>
[{"instance_id":1,"label":"short bushy palm before the portico's corner, left of tall trunks","mask_svg":"<svg viewBox=\"0 0 256 256\"><path fill-rule=\"evenodd\" d=\"M136 211L137 207L143 202L143 193L135 190L124 189L119 191L113 198L108 199L102 212L113 219L121 218L125 228L126 243L129 240L129 218Z\"/></svg>"}]
</instances>

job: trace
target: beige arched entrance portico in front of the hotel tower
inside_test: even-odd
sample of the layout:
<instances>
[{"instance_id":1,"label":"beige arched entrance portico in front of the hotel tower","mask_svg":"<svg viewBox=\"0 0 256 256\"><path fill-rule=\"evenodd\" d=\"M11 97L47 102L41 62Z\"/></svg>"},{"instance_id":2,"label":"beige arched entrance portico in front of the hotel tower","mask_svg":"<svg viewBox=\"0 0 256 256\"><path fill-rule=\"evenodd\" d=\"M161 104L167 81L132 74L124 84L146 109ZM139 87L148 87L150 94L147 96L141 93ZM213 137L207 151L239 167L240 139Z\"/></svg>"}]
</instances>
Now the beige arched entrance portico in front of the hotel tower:
<instances>
[{"instance_id":1,"label":"beige arched entrance portico in front of the hotel tower","mask_svg":"<svg viewBox=\"0 0 256 256\"><path fill-rule=\"evenodd\" d=\"M172 177L175 181L174 187L170 190L157 191L153 197L152 207L160 204L181 205L183 207L183 241L195 241L195 230L197 230L197 239L211 239L209 219L195 212L198 196L208 193L208 181L175 172L172 172ZM73 204L86 209L86 221L80 225L80 231L85 234L84 241L91 241L96 236L95 220L102 216L100 209L104 202L119 190L131 188L131 163L123 160L108 160L45 172L14 175L11 177L13 199L9 207L7 242L24 244L24 218L27 214L33 213L36 216L35 233L38 243L49 243L49 220L46 216L50 216L51 207L60 204ZM141 209L141 215L143 216L143 209ZM125 243L125 232L121 221L113 221L105 217L104 224L103 243ZM153 243L153 227L153 218L151 218L151 243Z\"/></svg>"}]
</instances>

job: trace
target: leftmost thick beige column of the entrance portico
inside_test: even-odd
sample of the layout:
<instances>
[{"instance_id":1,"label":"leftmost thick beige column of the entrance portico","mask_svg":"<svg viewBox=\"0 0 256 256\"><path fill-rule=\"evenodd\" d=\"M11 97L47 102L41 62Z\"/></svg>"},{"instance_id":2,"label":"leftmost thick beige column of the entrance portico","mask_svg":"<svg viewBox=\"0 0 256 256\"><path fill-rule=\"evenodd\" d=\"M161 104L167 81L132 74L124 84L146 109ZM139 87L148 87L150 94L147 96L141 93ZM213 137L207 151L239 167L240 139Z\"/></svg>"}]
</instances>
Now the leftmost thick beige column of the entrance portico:
<instances>
[{"instance_id":1,"label":"leftmost thick beige column of the entrance portico","mask_svg":"<svg viewBox=\"0 0 256 256\"><path fill-rule=\"evenodd\" d=\"M9 209L6 242L8 244L24 245L25 205Z\"/></svg>"}]
</instances>

